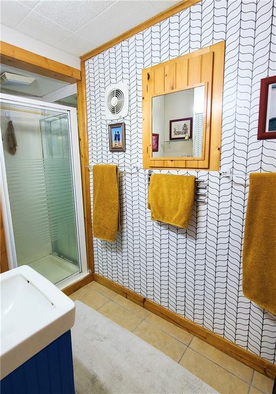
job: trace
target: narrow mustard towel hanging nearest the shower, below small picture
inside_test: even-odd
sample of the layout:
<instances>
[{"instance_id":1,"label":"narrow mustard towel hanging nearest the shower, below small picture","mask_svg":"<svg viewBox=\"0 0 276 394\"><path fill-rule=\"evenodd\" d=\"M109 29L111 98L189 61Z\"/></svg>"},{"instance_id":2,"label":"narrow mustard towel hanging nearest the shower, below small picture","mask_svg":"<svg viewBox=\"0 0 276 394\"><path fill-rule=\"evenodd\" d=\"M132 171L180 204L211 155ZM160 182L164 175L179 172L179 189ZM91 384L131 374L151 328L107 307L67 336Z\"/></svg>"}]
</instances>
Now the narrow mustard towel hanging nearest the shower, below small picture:
<instances>
[{"instance_id":1,"label":"narrow mustard towel hanging nearest the shower, below small picture","mask_svg":"<svg viewBox=\"0 0 276 394\"><path fill-rule=\"evenodd\" d=\"M114 242L120 230L118 167L93 166L93 235Z\"/></svg>"}]
</instances>

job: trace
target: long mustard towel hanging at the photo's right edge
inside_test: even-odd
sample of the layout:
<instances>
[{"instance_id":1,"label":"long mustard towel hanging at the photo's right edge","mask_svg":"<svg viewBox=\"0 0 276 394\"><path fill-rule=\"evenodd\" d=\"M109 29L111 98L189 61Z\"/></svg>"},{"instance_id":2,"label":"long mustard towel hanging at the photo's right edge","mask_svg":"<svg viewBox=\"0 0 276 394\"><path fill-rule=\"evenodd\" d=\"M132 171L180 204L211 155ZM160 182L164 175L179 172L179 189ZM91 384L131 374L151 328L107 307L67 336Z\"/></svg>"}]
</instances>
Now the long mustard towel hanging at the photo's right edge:
<instances>
[{"instance_id":1,"label":"long mustard towel hanging at the photo's right edge","mask_svg":"<svg viewBox=\"0 0 276 394\"><path fill-rule=\"evenodd\" d=\"M276 315L276 172L249 177L243 293Z\"/></svg>"}]
</instances>

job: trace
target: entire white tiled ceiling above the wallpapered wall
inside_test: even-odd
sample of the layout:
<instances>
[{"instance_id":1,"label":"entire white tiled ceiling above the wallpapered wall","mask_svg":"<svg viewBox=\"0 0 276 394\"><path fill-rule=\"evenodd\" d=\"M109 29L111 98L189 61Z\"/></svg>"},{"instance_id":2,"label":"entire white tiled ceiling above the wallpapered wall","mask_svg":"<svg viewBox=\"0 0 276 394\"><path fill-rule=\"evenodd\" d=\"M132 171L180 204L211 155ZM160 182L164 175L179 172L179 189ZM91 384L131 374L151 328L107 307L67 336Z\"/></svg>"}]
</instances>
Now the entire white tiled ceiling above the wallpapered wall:
<instances>
[{"instance_id":1,"label":"entire white tiled ceiling above the wallpapered wall","mask_svg":"<svg viewBox=\"0 0 276 394\"><path fill-rule=\"evenodd\" d=\"M1 1L1 23L79 56L178 2L179 0Z\"/></svg>"}]
</instances>

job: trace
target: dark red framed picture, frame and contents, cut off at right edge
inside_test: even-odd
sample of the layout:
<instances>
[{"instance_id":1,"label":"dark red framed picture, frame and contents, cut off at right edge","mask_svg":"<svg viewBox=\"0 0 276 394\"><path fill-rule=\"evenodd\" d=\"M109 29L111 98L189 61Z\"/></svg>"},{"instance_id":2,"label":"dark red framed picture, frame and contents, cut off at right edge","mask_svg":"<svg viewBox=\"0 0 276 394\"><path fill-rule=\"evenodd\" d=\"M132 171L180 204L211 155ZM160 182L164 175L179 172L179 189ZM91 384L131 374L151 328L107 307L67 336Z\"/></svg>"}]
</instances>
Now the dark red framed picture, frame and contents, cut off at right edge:
<instances>
[{"instance_id":1,"label":"dark red framed picture, frame and contents, cut off at right edge","mask_svg":"<svg viewBox=\"0 0 276 394\"><path fill-rule=\"evenodd\" d=\"M276 75L261 79L257 138L276 138Z\"/></svg>"}]
</instances>

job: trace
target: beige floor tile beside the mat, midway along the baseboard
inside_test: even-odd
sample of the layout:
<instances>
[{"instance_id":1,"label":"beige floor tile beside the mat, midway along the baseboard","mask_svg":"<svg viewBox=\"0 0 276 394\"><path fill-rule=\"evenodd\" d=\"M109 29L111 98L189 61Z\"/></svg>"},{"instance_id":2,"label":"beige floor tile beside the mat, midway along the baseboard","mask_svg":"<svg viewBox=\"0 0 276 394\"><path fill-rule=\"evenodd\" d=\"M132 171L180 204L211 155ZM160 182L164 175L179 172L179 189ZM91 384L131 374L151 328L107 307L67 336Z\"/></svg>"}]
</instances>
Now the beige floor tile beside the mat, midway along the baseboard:
<instances>
[{"instance_id":1,"label":"beige floor tile beside the mat, midway along the baseboard","mask_svg":"<svg viewBox=\"0 0 276 394\"><path fill-rule=\"evenodd\" d=\"M186 346L170 337L159 328L146 323L145 320L133 331L139 338L150 343L168 357L178 362L186 349Z\"/></svg>"}]
</instances>

